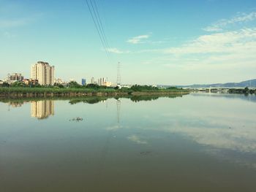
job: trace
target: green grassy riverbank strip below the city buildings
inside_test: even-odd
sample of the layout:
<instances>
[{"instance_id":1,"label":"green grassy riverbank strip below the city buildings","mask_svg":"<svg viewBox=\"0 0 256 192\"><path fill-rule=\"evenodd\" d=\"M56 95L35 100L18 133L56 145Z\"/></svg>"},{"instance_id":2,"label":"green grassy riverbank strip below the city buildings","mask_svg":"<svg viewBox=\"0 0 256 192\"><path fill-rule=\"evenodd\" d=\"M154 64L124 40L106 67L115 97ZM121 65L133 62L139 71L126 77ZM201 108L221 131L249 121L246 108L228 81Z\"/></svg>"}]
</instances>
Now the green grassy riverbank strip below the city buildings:
<instances>
[{"instance_id":1,"label":"green grassy riverbank strip below the city buildings","mask_svg":"<svg viewBox=\"0 0 256 192\"><path fill-rule=\"evenodd\" d=\"M132 91L131 89L89 88L0 88L0 98L73 97L73 96L169 96L184 95L182 89Z\"/></svg>"}]
</instances>

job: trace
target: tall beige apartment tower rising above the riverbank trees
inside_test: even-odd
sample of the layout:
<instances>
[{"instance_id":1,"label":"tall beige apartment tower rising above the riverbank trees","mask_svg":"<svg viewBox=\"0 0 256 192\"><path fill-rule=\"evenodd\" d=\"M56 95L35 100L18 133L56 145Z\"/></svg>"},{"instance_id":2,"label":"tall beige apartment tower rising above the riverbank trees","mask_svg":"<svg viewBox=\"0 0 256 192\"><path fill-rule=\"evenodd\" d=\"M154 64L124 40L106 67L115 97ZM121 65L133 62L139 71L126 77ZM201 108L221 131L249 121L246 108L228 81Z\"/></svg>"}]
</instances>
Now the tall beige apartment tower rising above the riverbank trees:
<instances>
[{"instance_id":1,"label":"tall beige apartment tower rising above the riverbank trees","mask_svg":"<svg viewBox=\"0 0 256 192\"><path fill-rule=\"evenodd\" d=\"M31 79L38 80L39 85L54 85L54 66L38 61L31 66Z\"/></svg>"}]
</instances>

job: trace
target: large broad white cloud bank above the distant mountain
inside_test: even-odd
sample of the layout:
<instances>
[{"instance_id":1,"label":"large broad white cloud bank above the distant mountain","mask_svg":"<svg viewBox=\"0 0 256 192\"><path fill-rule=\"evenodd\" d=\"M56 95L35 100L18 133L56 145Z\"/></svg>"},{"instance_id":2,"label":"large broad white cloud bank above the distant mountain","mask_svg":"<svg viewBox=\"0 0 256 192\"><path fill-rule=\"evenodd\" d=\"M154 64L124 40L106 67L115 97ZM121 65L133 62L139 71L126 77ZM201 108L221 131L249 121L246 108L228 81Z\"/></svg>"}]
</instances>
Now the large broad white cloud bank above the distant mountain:
<instances>
[{"instance_id":1,"label":"large broad white cloud bank above the distant mountain","mask_svg":"<svg viewBox=\"0 0 256 192\"><path fill-rule=\"evenodd\" d=\"M256 28L203 35L164 52L171 55L163 57L165 66L178 64L187 69L253 67L256 61Z\"/></svg>"}]
</instances>

